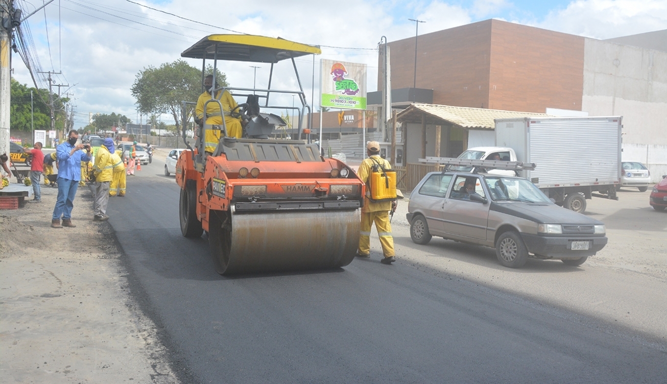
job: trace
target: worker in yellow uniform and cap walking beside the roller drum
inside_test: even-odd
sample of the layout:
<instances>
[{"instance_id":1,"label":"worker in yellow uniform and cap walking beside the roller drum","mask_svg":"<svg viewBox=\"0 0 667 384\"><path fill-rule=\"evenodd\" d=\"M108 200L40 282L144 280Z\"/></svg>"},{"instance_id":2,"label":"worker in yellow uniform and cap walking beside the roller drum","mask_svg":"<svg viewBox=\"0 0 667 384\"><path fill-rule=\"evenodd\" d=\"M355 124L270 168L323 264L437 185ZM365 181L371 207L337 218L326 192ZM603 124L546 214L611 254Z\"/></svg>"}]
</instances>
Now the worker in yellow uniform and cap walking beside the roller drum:
<instances>
[{"instance_id":1,"label":"worker in yellow uniform and cap walking beside the roller drum","mask_svg":"<svg viewBox=\"0 0 667 384\"><path fill-rule=\"evenodd\" d=\"M386 169L391 169L392 165L386 159L380 157L380 143L377 141L369 141L366 145L366 153L368 159L364 159L359 166L359 178L366 184L366 196L364 196L364 207L362 208L362 234L359 237L359 249L357 251L358 257L368 258L371 251L371 227L373 223L376 224L378 235L380 235L380 244L382 244L382 253L384 259L380 262L383 264L391 264L396 261L394 257L394 237L392 237L392 225L389 222L389 211L396 207L396 200L394 201L378 201L370 200L370 188L368 187L368 178L371 174L371 168L374 164L384 165Z\"/></svg>"}]
</instances>

